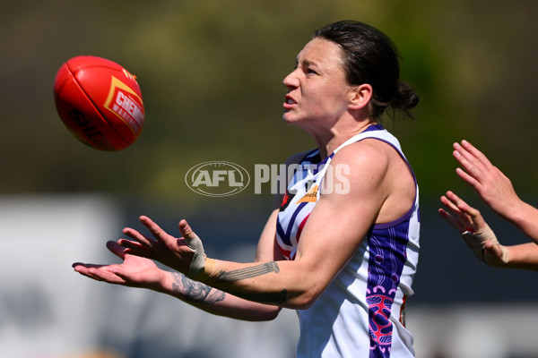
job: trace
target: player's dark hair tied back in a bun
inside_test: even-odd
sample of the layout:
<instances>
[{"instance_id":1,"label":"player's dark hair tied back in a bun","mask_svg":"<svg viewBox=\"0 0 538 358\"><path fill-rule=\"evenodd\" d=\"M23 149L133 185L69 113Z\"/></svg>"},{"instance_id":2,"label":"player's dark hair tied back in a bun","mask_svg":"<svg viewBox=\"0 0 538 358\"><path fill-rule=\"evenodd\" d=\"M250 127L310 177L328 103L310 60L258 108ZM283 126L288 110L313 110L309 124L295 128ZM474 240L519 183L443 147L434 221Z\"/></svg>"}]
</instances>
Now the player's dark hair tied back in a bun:
<instances>
[{"instance_id":1,"label":"player's dark hair tied back in a bun","mask_svg":"<svg viewBox=\"0 0 538 358\"><path fill-rule=\"evenodd\" d=\"M372 86L374 119L387 107L412 117L409 110L419 103L419 97L409 84L400 81L400 56L383 32L359 21L338 21L316 30L312 38L325 38L342 48L343 69L351 85Z\"/></svg>"}]
</instances>

